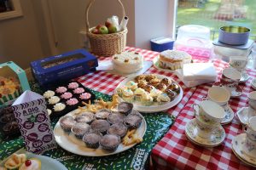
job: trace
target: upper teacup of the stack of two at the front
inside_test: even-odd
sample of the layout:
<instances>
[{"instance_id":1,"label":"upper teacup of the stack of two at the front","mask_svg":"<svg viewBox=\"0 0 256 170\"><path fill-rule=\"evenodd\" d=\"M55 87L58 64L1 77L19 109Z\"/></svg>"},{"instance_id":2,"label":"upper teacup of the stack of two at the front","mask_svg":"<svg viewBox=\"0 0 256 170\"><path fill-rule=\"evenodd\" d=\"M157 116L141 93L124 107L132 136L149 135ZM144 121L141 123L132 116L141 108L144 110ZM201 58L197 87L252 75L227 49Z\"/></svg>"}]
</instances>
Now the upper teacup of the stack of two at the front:
<instances>
[{"instance_id":1,"label":"upper teacup of the stack of two at the front","mask_svg":"<svg viewBox=\"0 0 256 170\"><path fill-rule=\"evenodd\" d=\"M209 125L219 124L224 119L224 109L213 101L204 100L201 101L200 105L195 104L192 106L195 110L195 115Z\"/></svg>"}]
</instances>

